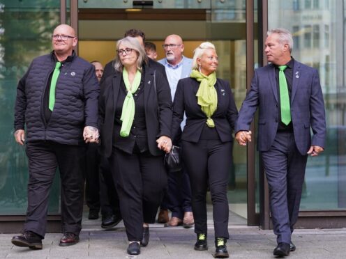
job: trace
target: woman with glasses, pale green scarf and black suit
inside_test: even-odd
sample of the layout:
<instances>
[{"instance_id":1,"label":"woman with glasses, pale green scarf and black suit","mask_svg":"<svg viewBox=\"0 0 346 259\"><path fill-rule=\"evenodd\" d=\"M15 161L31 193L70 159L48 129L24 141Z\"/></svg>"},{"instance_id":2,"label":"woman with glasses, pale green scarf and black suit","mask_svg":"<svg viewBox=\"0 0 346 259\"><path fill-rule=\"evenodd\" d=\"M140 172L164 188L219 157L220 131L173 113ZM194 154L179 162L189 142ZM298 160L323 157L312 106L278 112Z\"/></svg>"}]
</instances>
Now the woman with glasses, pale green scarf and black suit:
<instances>
[{"instance_id":1,"label":"woman with glasses, pale green scarf and black suit","mask_svg":"<svg viewBox=\"0 0 346 259\"><path fill-rule=\"evenodd\" d=\"M100 86L101 149L119 194L127 252L138 255L167 185L163 155L172 148L172 98L167 79L149 68L135 38L118 40L114 68Z\"/></svg>"}]
</instances>

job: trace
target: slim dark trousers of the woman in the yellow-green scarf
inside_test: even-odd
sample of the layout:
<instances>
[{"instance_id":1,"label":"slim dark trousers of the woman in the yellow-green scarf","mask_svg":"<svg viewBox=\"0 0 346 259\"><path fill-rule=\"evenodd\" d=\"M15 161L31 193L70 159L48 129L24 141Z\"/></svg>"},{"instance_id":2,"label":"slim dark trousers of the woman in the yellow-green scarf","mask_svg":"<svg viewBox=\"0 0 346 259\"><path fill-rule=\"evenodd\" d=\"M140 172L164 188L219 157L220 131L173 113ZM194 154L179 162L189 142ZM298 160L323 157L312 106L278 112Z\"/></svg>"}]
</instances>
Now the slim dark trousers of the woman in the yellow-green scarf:
<instances>
[{"instance_id":1,"label":"slim dark trousers of the woman in the yellow-green scarf","mask_svg":"<svg viewBox=\"0 0 346 259\"><path fill-rule=\"evenodd\" d=\"M195 233L207 233L206 191L209 182L215 237L229 238L227 182L232 164L232 143L181 141L184 164L190 175Z\"/></svg>"}]
</instances>

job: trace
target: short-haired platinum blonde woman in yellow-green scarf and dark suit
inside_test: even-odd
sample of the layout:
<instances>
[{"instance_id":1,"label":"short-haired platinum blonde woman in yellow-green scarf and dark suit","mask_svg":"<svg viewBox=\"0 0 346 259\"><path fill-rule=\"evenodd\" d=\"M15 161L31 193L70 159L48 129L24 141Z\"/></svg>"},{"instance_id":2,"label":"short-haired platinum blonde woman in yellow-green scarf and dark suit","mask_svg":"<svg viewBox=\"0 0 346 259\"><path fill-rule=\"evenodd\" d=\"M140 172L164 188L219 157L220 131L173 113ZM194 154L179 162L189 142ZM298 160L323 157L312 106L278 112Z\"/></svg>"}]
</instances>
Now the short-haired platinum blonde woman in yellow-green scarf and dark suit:
<instances>
[{"instance_id":1,"label":"short-haired platinum blonde woman in yellow-green scarf and dark suit","mask_svg":"<svg viewBox=\"0 0 346 259\"><path fill-rule=\"evenodd\" d=\"M215 46L203 42L193 56L190 77L179 80L174 95L172 137L181 135L183 162L190 176L197 242L195 250L207 250L206 190L213 203L216 258L228 258L227 179L232 164L232 131L238 111L230 84L216 78Z\"/></svg>"}]
</instances>

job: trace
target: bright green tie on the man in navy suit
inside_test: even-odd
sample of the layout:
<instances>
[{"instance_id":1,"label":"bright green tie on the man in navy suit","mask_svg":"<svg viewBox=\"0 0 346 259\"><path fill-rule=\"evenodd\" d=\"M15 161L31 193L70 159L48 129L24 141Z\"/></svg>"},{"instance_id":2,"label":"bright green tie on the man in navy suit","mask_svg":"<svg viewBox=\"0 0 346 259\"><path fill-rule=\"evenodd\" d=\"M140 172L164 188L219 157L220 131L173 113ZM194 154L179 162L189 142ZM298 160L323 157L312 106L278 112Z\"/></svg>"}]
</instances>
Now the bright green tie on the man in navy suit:
<instances>
[{"instance_id":1,"label":"bright green tie on the man in navy suit","mask_svg":"<svg viewBox=\"0 0 346 259\"><path fill-rule=\"evenodd\" d=\"M288 125L291 122L291 109L289 105L289 95L287 88L287 81L285 72L283 72L287 65L280 65L279 67L279 86L280 86L280 109L281 109L281 121L283 124Z\"/></svg>"}]
</instances>

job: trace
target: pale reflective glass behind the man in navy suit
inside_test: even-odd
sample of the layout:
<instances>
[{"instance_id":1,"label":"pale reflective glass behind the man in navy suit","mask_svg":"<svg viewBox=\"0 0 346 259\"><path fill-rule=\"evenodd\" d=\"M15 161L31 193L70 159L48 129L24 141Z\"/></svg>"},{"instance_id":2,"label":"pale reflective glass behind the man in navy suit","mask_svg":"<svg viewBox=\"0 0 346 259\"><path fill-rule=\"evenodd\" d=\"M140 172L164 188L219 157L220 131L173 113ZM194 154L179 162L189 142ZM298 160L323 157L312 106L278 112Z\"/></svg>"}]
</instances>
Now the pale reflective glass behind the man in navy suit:
<instances>
[{"instance_id":1,"label":"pale reflective glass behind the man in navy suit","mask_svg":"<svg viewBox=\"0 0 346 259\"><path fill-rule=\"evenodd\" d=\"M346 209L345 3L268 2L269 29L292 31L292 56L319 71L326 105L326 150L308 159L301 210Z\"/></svg>"}]
</instances>

